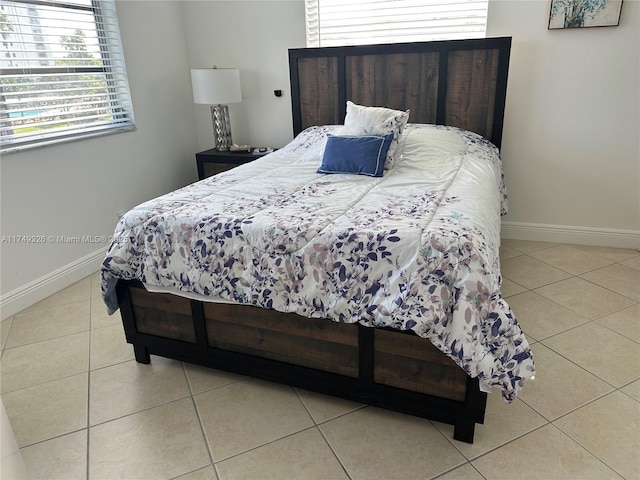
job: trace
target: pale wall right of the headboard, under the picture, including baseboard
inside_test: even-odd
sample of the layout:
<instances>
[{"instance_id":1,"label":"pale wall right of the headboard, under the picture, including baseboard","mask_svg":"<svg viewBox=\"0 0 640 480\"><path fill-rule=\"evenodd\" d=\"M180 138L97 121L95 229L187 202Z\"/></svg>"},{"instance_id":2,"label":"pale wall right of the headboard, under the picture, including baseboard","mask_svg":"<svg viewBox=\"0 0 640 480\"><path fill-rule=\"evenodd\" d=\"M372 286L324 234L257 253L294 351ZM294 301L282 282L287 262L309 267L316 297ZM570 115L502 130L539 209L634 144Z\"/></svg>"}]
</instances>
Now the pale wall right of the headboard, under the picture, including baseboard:
<instances>
[{"instance_id":1,"label":"pale wall right of the headboard, under the picture, including baseboard","mask_svg":"<svg viewBox=\"0 0 640 480\"><path fill-rule=\"evenodd\" d=\"M548 1L489 3L511 36L505 236L640 246L640 2L617 27L548 30Z\"/></svg>"}]
</instances>

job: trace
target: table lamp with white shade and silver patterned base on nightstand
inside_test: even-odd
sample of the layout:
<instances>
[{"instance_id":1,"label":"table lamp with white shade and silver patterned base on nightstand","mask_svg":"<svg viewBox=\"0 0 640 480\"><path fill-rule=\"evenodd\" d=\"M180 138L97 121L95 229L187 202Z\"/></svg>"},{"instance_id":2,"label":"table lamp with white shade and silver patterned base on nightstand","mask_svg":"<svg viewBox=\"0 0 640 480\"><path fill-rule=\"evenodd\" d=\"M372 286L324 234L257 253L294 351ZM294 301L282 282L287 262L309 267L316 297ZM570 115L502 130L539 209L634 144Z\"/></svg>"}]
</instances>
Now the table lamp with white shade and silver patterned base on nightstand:
<instances>
[{"instance_id":1,"label":"table lamp with white shade and silver patterned base on nightstand","mask_svg":"<svg viewBox=\"0 0 640 480\"><path fill-rule=\"evenodd\" d=\"M211 105L215 148L228 151L232 145L227 103L242 101L240 71L237 68L193 68L191 86L195 103Z\"/></svg>"}]
</instances>

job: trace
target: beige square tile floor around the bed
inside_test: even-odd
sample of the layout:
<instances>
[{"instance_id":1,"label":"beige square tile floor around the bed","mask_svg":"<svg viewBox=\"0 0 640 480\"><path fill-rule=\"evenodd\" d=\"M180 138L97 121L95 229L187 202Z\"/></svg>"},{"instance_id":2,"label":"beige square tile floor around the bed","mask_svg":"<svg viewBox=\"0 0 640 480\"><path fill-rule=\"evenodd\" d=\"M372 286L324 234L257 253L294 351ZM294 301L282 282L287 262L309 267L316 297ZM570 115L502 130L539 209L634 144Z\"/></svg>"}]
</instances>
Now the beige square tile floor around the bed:
<instances>
[{"instance_id":1,"label":"beige square tile floor around the bed","mask_svg":"<svg viewBox=\"0 0 640 480\"><path fill-rule=\"evenodd\" d=\"M640 255L505 240L534 382L449 425L152 357L98 276L2 322L1 394L32 478L640 478Z\"/></svg>"}]
</instances>

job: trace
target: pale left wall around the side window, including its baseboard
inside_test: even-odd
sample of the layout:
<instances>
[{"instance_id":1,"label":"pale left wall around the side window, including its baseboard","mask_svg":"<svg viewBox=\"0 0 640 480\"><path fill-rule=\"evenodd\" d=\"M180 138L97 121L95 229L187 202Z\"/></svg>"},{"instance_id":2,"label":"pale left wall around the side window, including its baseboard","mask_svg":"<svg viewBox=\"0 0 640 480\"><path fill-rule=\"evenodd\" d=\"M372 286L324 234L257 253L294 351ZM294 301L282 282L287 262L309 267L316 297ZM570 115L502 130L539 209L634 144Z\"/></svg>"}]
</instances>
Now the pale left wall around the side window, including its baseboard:
<instances>
[{"instance_id":1,"label":"pale left wall around the side window, including its baseboard","mask_svg":"<svg viewBox=\"0 0 640 480\"><path fill-rule=\"evenodd\" d=\"M116 212L197 178L180 3L117 9L137 131L3 156L2 235L108 236ZM96 272L107 247L3 243L2 318Z\"/></svg>"}]
</instances>

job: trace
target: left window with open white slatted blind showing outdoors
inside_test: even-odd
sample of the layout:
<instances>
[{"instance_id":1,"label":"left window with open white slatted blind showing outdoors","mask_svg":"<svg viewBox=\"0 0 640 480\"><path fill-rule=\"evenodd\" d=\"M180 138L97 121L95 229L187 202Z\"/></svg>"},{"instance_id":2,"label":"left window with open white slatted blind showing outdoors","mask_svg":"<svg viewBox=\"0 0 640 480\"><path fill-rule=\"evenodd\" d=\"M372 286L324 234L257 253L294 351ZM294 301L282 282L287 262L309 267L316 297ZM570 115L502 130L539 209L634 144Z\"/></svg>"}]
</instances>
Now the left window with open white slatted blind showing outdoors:
<instances>
[{"instance_id":1,"label":"left window with open white slatted blind showing outdoors","mask_svg":"<svg viewBox=\"0 0 640 480\"><path fill-rule=\"evenodd\" d=\"M0 152L135 128L115 0L0 0Z\"/></svg>"}]
</instances>

